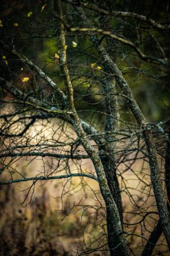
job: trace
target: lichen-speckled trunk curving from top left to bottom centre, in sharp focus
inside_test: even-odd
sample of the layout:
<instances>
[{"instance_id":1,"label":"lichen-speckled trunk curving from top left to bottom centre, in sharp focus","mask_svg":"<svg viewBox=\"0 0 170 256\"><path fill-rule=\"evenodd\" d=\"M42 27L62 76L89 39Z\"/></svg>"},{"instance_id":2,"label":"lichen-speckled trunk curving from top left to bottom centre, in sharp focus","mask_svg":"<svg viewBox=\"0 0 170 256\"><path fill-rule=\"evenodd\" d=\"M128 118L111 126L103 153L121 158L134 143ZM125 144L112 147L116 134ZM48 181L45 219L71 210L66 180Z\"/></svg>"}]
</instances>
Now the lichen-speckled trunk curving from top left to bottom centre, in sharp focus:
<instances>
[{"instance_id":1,"label":"lichen-speckled trunk curving from top left to bottom centre, in sharp focus","mask_svg":"<svg viewBox=\"0 0 170 256\"><path fill-rule=\"evenodd\" d=\"M81 121L77 115L74 104L73 97L73 86L71 84L71 79L69 75L69 69L67 67L67 55L65 48L65 26L62 24L62 7L60 0L56 0L56 10L58 11L59 20L59 42L60 42L60 69L65 78L65 86L67 88L67 98L69 100L69 109L73 112L71 117L71 122L77 135L81 141L82 146L85 148L85 151L91 158L93 162L93 166L95 168L97 179L99 182L99 188L101 191L101 195L103 196L103 200L105 201L105 207L107 212L107 219L110 223L110 229L112 230L112 243L110 247L110 252L114 251L114 255L118 256L128 256L129 250L126 244L126 239L124 238L124 231L122 229L122 223L120 221L120 216L118 212L118 207L114 201L114 197L112 197L112 193L110 192L110 188L108 186L108 181L105 177L105 172L103 170L103 166L101 160L95 151L95 148L91 146L89 143L89 139L83 130L81 125ZM112 253L113 255L113 253Z\"/></svg>"}]
</instances>

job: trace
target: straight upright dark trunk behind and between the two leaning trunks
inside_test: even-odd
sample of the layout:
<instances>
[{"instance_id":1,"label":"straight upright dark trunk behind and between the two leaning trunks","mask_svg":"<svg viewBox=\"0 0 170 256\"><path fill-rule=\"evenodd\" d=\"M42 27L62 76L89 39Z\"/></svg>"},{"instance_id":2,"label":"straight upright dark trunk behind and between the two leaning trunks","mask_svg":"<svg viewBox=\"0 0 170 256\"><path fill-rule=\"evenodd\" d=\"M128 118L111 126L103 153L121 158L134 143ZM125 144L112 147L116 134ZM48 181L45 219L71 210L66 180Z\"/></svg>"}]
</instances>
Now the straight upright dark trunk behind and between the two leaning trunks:
<instances>
[{"instance_id":1,"label":"straight upright dark trunk behind and between the two leaning trunks","mask_svg":"<svg viewBox=\"0 0 170 256\"><path fill-rule=\"evenodd\" d=\"M104 5L105 3L101 3ZM101 24L103 28L107 28L110 24L108 18L101 16ZM118 48L117 42L113 38L105 38L106 40L106 49L110 51L110 55L114 61L116 61L116 49ZM108 73L107 67L104 65L105 75L103 77L103 91L105 92L105 129L104 131L115 131L118 129L118 99L116 96L116 80L113 77L112 73ZM114 95L115 94L115 95ZM115 159L115 148L116 143L114 141L114 136L112 133L105 136L105 144L99 147L103 152L105 152L105 157L101 158L103 164L103 169L105 171L105 176L108 181L108 186L114 197L114 201L118 207L120 214L120 220L122 222L123 228L123 209L122 209L122 198L120 193L120 185L118 182L118 177L116 173L116 159ZM108 228L108 245L110 248L113 247L115 237L113 234L112 226L110 225L110 216L107 217L107 228ZM110 251L111 256L115 255L114 251Z\"/></svg>"}]
</instances>

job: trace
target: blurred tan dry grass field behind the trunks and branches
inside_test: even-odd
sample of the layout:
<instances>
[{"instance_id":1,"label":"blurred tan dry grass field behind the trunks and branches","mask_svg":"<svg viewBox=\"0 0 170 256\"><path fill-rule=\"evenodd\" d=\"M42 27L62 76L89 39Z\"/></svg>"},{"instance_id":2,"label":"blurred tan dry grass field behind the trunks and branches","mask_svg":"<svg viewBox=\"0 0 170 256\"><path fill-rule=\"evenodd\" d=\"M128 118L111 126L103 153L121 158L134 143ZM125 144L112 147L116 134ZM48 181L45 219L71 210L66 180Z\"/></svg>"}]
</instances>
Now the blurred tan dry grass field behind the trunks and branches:
<instances>
[{"instance_id":1,"label":"blurred tan dry grass field behind the trunks and branches","mask_svg":"<svg viewBox=\"0 0 170 256\"><path fill-rule=\"evenodd\" d=\"M68 137L76 139L70 128L64 125L60 129L58 123L53 122L37 122L34 129L15 144L24 141L32 145L46 141L69 142ZM9 145L13 146L13 143L6 141L6 146ZM61 147L58 152L66 153L68 149L69 146ZM81 150L83 152L83 148L79 148L79 152ZM11 158L6 158L3 162L7 171L1 179L65 174L69 168L71 172L94 173L93 164L88 159L74 163L60 160L58 168L58 160L52 158L25 157L10 161ZM131 168L126 170L130 164ZM161 160L160 165L163 170ZM134 255L138 256L158 220L148 163L138 159L133 164L130 161L120 164L118 175L127 240ZM105 204L97 181L72 178L38 181L34 185L31 182L16 183L0 189L0 255L79 255L82 249L85 252L89 248L94 251L87 255L109 255L104 246L107 243ZM97 247L101 250L95 250ZM163 236L153 255L169 255Z\"/></svg>"}]
</instances>

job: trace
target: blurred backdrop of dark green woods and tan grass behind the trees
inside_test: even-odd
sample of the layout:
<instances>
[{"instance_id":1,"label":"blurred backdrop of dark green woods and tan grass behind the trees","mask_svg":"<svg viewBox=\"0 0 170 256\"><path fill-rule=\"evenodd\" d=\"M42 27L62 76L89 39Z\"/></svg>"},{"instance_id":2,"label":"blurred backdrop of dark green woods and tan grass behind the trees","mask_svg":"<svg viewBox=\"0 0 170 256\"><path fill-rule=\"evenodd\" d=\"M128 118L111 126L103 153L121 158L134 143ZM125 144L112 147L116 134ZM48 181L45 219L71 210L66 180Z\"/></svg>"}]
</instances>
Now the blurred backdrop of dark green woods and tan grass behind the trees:
<instances>
[{"instance_id":1,"label":"blurred backdrop of dark green woods and tan grass behind the trees","mask_svg":"<svg viewBox=\"0 0 170 256\"><path fill-rule=\"evenodd\" d=\"M93 0L82 3L93 3L103 9L110 6L118 11L146 15L158 23L168 24L170 19L169 1ZM81 21L72 5L63 1L62 7L67 13L67 23L79 26ZM113 39L107 44L107 38L99 36L108 53L114 56L113 59L128 81L134 98L148 122L157 124L169 118L169 64L162 65L161 61L157 61L170 59L169 30L157 30L151 24L132 18L107 17L92 9L84 10L91 26L112 30L116 35L128 38L145 55L155 57L155 60L144 61L127 44ZM1 1L0 30L3 42L15 44L17 50L40 67L61 90L66 92L58 61L57 26L53 1ZM103 63L87 34L67 31L66 38L68 66L74 86L77 112L81 119L102 132L106 117L103 113L104 97L100 81L103 79L103 73L107 71L103 70ZM0 50L0 69L1 76L24 93L34 95L39 100L45 98L52 104L57 102L57 96L51 93L44 79L3 47ZM13 97L1 87L0 100L1 115L13 113L13 108L17 108L15 103L11 103ZM118 96L118 108L119 130L124 133L137 132L140 127L135 125L126 99ZM19 108L19 111L22 110L25 108ZM168 126L163 128L168 131ZM13 125L12 129L15 132L17 129L19 131L18 124ZM164 134L157 135L159 134L155 127L159 162L164 172L166 140L163 138ZM66 143L76 137L69 125L52 117L36 121L34 127L28 129L24 136L30 137L32 143L41 140ZM134 234L128 238L134 255L140 255L145 243L143 237L148 238L158 220L157 207L151 188L148 161L144 154L134 150L136 143L140 143L140 149L144 151L142 139L140 142L132 142L131 138L121 136L118 135L116 141L116 160L124 222L126 231ZM95 145L94 140L91 140L91 143ZM62 147L63 152L67 150L67 147ZM79 152L84 154L81 146ZM58 162L51 157L44 159L32 156L12 160L7 158L5 161L7 168L10 168L9 172L19 170L23 175L32 173L31 176L36 176L43 172L50 175L57 164L60 165L61 173L65 172L66 165L73 172L79 169L94 173L93 164L89 159L62 159ZM4 174L2 179L9 175ZM162 177L164 179L163 173ZM32 182L16 183L1 186L0 191L0 255L109 255L105 238L105 205L95 180L89 181L85 177L79 177L39 181L34 185ZM141 207L143 212L136 215L138 207ZM99 248L101 245L101 250L93 251L93 248ZM88 251L89 248L92 249L91 253ZM154 253L153 255L169 255L163 236L159 238Z\"/></svg>"}]
</instances>

